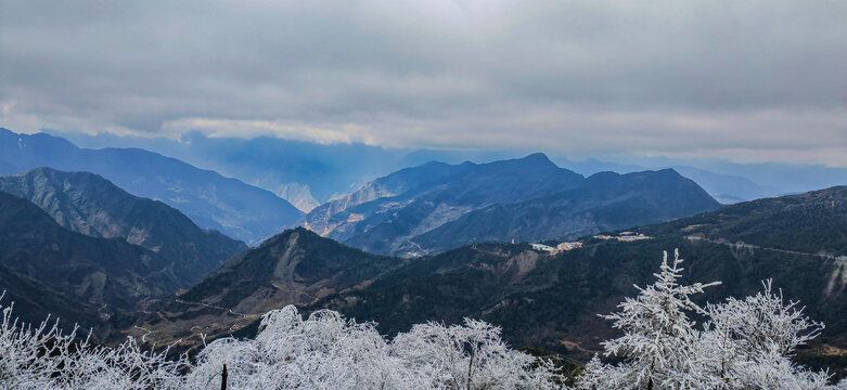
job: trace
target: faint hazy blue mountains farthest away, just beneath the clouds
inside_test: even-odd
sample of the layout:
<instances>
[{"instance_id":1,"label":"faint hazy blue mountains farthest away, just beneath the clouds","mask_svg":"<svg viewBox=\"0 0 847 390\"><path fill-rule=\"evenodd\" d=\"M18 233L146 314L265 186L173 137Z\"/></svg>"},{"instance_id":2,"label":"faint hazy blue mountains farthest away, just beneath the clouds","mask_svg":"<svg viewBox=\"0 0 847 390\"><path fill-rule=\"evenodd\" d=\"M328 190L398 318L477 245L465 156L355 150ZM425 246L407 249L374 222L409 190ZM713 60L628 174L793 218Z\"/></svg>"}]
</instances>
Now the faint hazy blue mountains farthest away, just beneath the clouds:
<instances>
[{"instance_id":1,"label":"faint hazy blue mountains farthest away, just beneath the clouds","mask_svg":"<svg viewBox=\"0 0 847 390\"><path fill-rule=\"evenodd\" d=\"M290 200L305 212L376 178L428 161L478 164L517 158L529 151L399 150L364 144L317 144L260 136L252 140L189 132L179 140L113 134L62 133L86 147L144 147L197 167L238 178ZM779 164L733 164L717 159L577 159L549 154L560 167L586 177L672 168L723 204L847 184L847 169Z\"/></svg>"}]
</instances>

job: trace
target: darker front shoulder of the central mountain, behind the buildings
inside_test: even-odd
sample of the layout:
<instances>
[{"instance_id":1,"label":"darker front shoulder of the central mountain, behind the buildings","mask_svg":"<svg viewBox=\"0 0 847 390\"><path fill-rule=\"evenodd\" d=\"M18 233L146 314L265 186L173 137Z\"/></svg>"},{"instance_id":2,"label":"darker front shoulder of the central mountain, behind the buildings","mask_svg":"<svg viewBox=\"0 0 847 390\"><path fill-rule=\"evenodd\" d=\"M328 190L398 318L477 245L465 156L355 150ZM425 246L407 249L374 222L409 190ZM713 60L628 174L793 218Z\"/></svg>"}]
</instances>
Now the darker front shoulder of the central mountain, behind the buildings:
<instances>
[{"instance_id":1,"label":"darker front shoulder of the central mountain, behind the buildings","mask_svg":"<svg viewBox=\"0 0 847 390\"><path fill-rule=\"evenodd\" d=\"M552 195L469 212L411 242L444 251L480 242L568 240L718 207L703 188L672 169L601 172Z\"/></svg>"}]
</instances>

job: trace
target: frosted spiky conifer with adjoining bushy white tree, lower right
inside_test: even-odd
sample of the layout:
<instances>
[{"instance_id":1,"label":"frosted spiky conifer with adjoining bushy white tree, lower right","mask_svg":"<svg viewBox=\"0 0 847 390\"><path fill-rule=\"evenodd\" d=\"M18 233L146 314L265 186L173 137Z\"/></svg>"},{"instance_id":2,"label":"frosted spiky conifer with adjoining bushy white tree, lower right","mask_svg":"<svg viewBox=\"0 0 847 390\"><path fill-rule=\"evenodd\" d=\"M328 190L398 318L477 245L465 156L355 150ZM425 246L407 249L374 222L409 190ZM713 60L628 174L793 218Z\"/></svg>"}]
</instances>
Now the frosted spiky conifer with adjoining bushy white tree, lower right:
<instances>
[{"instance_id":1,"label":"frosted spiky conifer with adjoining bushy white tree, lower right","mask_svg":"<svg viewBox=\"0 0 847 390\"><path fill-rule=\"evenodd\" d=\"M603 343L606 356L623 360L589 362L580 389L834 389L829 375L791 361L797 346L823 328L803 314L797 302L784 303L765 290L744 300L729 298L702 309L691 296L714 284L682 286L682 260L665 253L657 282L627 298L621 311L605 315L624 336ZM706 321L697 329L689 314ZM847 386L842 382L838 388Z\"/></svg>"}]
</instances>

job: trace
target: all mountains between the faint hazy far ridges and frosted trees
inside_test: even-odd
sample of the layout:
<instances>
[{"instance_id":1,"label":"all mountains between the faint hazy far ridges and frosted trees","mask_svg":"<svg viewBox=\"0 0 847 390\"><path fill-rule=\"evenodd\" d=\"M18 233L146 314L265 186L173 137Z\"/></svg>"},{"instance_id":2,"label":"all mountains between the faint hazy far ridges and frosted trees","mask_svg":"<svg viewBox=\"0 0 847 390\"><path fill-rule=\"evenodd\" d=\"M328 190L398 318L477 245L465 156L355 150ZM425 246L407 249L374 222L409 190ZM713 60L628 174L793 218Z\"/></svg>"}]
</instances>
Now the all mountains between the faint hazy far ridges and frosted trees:
<instances>
[{"instance_id":1,"label":"all mountains between the faint hazy far ridges and frosted trees","mask_svg":"<svg viewBox=\"0 0 847 390\"><path fill-rule=\"evenodd\" d=\"M293 303L375 321L388 335L482 318L514 347L585 360L617 332L596 314L649 284L662 250L680 248L683 283L723 282L700 303L772 278L826 323L798 359L847 363L847 187L721 207L675 169L583 177L532 154L401 169L303 214L142 150L5 130L0 141L4 302L27 321L52 313L93 327L106 342L133 335L188 349L201 335L249 336L268 310ZM733 193L761 191L734 183ZM238 223L211 230L228 219ZM308 229L278 233L285 225ZM624 229L643 239L615 239ZM252 244L277 234L249 248L233 232ZM563 240L581 247L528 244Z\"/></svg>"}]
</instances>

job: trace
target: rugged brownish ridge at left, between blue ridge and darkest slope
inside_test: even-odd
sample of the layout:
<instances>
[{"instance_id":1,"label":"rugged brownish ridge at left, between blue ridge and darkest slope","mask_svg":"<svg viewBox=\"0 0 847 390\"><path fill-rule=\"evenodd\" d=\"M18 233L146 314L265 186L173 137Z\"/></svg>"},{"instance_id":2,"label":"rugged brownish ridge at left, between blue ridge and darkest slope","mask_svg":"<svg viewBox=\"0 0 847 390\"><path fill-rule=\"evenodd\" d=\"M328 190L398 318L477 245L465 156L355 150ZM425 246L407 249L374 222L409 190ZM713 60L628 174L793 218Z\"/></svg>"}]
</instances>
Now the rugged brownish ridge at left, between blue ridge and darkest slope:
<instances>
[{"instance_id":1,"label":"rugged brownish ridge at left, between blue ridge and darkest slope","mask_svg":"<svg viewBox=\"0 0 847 390\"><path fill-rule=\"evenodd\" d=\"M0 191L33 202L70 231L124 238L156 252L183 287L247 248L217 231L201 230L164 203L130 195L89 172L36 168L0 177Z\"/></svg>"}]
</instances>

